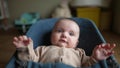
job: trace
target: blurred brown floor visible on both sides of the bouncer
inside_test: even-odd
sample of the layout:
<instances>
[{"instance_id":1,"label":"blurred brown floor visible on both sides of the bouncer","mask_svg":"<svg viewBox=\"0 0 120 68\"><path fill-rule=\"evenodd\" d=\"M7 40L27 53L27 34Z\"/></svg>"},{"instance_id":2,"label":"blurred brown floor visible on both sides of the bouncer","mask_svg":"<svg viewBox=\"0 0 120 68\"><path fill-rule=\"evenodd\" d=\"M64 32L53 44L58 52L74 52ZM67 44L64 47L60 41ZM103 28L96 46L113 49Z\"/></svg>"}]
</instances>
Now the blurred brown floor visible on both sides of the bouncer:
<instances>
[{"instance_id":1,"label":"blurred brown floor visible on both sides of the bouncer","mask_svg":"<svg viewBox=\"0 0 120 68\"><path fill-rule=\"evenodd\" d=\"M109 43L116 43L115 57L120 63L120 34L115 34L110 31L102 31L102 35ZM7 31L0 30L0 68L4 68L15 52L15 47L12 44L14 36L20 35L16 29L9 29Z\"/></svg>"}]
</instances>

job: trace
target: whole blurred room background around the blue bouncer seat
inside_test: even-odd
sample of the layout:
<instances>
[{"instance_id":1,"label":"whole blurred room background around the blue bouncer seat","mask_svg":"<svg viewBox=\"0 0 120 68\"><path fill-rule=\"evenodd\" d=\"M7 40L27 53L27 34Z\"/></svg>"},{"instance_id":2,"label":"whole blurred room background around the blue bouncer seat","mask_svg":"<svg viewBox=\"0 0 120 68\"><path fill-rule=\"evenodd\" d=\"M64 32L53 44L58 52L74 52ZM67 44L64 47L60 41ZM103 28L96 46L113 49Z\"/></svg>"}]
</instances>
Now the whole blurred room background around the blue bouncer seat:
<instances>
[{"instance_id":1,"label":"whole blurred room background around the blue bouncer seat","mask_svg":"<svg viewBox=\"0 0 120 68\"><path fill-rule=\"evenodd\" d=\"M25 34L40 19L62 17L64 12L69 12L66 17L93 20L105 40L117 44L120 63L120 0L0 0L0 68L15 52L14 36Z\"/></svg>"}]
</instances>

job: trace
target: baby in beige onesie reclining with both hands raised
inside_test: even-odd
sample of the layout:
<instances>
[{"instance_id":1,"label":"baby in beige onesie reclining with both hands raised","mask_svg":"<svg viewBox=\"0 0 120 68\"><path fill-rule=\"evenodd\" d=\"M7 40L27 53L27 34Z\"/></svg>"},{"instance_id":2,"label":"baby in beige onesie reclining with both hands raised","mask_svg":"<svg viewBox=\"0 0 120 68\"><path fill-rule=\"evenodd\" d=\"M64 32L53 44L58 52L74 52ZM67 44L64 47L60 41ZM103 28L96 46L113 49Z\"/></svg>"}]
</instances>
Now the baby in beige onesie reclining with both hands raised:
<instances>
[{"instance_id":1,"label":"baby in beige onesie reclining with both hands raised","mask_svg":"<svg viewBox=\"0 0 120 68\"><path fill-rule=\"evenodd\" d=\"M40 63L61 62L73 67L86 67L105 60L114 53L115 44L97 45L91 56L86 56L85 51L76 48L79 41L80 28L71 19L60 19L55 24L51 34L50 46L38 46L33 49L33 41L27 36L14 37L13 44L17 48L17 57L22 61Z\"/></svg>"}]
</instances>

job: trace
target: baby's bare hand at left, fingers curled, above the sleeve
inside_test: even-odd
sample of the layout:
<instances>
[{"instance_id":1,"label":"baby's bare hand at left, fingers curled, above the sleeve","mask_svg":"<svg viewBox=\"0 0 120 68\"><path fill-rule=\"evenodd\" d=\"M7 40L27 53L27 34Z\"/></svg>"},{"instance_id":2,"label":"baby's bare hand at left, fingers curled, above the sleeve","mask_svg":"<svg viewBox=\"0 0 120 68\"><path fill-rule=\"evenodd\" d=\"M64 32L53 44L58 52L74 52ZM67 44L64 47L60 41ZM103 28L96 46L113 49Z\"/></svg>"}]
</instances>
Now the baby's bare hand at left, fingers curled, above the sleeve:
<instances>
[{"instance_id":1,"label":"baby's bare hand at left, fingers curled, above the sleeve","mask_svg":"<svg viewBox=\"0 0 120 68\"><path fill-rule=\"evenodd\" d=\"M13 44L16 48L26 47L28 45L31 45L32 43L32 39L28 38L27 36L14 37L13 39Z\"/></svg>"}]
</instances>

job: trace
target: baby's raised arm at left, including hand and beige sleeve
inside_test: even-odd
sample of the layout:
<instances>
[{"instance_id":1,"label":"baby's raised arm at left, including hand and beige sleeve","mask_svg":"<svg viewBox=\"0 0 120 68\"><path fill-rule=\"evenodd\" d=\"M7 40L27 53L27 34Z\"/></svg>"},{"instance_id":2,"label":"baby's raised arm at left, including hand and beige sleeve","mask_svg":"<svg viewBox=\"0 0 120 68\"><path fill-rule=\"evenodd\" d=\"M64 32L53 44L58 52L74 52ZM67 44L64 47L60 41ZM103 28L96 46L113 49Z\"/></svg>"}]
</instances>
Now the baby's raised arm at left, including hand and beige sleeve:
<instances>
[{"instance_id":1,"label":"baby's raised arm at left, including hand and beige sleeve","mask_svg":"<svg viewBox=\"0 0 120 68\"><path fill-rule=\"evenodd\" d=\"M33 49L33 41L27 36L14 37L13 44L17 49L17 57L21 61L38 61L39 55Z\"/></svg>"}]
</instances>

